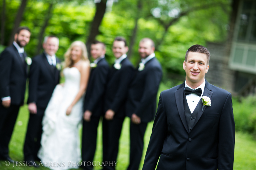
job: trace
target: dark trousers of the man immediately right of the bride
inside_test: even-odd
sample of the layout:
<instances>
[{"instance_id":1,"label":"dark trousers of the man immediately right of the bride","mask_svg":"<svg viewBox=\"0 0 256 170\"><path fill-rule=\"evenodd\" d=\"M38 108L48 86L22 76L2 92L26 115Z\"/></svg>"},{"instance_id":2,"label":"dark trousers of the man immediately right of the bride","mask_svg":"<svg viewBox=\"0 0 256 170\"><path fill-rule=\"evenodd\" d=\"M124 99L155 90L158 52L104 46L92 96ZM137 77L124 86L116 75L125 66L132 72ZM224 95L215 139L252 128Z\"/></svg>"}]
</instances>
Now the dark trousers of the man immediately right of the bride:
<instances>
[{"instance_id":1,"label":"dark trousers of the man immediately right of the bride","mask_svg":"<svg viewBox=\"0 0 256 170\"><path fill-rule=\"evenodd\" d=\"M93 162L93 158L96 151L97 144L97 128L99 125L100 117L91 116L91 120L89 122L83 121L83 132L82 132L82 161L83 164L81 167L84 170L93 169L93 165L90 163ZM86 162L86 163L85 163ZM88 166L87 165L88 163Z\"/></svg>"}]
</instances>

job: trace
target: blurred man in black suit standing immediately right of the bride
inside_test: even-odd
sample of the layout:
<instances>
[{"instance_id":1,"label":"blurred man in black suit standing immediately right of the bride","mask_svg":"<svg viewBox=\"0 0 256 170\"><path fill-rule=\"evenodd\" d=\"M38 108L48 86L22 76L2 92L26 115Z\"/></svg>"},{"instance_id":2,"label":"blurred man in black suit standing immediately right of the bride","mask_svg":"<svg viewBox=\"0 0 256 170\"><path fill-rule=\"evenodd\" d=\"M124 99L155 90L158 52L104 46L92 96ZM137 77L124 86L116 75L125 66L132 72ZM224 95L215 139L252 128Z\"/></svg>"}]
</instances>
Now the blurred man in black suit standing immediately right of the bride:
<instances>
[{"instance_id":1,"label":"blurred man in black suit standing immediately right of the bride","mask_svg":"<svg viewBox=\"0 0 256 170\"><path fill-rule=\"evenodd\" d=\"M105 59L106 46L100 41L91 44L91 57L94 62L90 64L91 73L84 100L84 122L82 137L82 160L93 162L96 144L97 128L100 116L103 113L104 92L109 72L109 65ZM89 164L88 164L89 165ZM82 164L85 170L93 166Z\"/></svg>"}]
</instances>

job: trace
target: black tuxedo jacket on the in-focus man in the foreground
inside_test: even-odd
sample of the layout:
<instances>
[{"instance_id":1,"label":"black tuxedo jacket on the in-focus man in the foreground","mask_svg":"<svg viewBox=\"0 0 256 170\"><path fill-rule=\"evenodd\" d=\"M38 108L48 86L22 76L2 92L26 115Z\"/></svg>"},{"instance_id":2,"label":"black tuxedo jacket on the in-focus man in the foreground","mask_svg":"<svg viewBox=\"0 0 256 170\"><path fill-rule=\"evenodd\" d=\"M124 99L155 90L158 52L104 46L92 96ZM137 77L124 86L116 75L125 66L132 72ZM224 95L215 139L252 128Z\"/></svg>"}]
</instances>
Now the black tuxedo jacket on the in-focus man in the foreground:
<instances>
[{"instance_id":1,"label":"black tuxedo jacket on the in-focus man in the foreground","mask_svg":"<svg viewBox=\"0 0 256 170\"><path fill-rule=\"evenodd\" d=\"M183 105L184 84L161 92L143 170L232 170L235 124L231 94L206 81L192 130Z\"/></svg>"}]
</instances>

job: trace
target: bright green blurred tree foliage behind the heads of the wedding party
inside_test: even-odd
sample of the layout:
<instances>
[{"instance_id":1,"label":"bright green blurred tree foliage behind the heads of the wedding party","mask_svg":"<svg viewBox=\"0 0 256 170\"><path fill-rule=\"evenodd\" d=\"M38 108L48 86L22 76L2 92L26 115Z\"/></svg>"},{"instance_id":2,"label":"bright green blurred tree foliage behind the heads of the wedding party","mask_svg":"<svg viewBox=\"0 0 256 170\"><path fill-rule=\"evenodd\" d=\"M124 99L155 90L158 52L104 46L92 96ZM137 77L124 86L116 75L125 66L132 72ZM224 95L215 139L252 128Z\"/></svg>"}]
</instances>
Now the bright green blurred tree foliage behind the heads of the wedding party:
<instances>
[{"instance_id":1,"label":"bright green blurred tree foliage behind the heads of the wedding party","mask_svg":"<svg viewBox=\"0 0 256 170\"><path fill-rule=\"evenodd\" d=\"M20 25L31 28L31 40L26 46L30 57L37 53L39 34L47 16L47 0L28 1ZM139 5L139 2L140 5ZM0 2L1 5L1 2ZM13 27L19 0L6 1L5 46ZM140 8L139 8L140 7ZM158 12L158 13L157 13ZM180 16L183 12L188 12ZM106 12L99 27L98 40L107 45L107 60L112 63L112 42L116 36L123 36L128 44L138 19L138 30L133 46L131 61L137 66L139 40L152 38L156 45L156 57L160 61L164 79L168 74L184 75L182 67L186 50L194 45L206 45L207 41L224 41L230 12L229 0L125 0L113 4L112 11ZM60 39L57 56L63 54L75 40L85 42L90 34L90 23L95 15L95 4L86 1L53 1L52 17L46 27L45 35L56 35ZM170 21L176 22L166 28ZM1 24L1 22L0 22Z\"/></svg>"}]
</instances>

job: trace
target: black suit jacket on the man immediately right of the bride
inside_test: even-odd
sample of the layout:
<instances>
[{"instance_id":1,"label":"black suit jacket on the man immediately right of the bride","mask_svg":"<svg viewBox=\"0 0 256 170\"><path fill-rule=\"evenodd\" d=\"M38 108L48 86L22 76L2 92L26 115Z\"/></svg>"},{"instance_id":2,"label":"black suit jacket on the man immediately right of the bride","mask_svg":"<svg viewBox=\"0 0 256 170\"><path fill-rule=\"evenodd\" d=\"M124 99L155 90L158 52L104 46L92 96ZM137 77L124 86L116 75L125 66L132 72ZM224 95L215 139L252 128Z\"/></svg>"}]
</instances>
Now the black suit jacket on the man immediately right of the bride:
<instances>
[{"instance_id":1,"label":"black suit jacket on the man immediately right of the bride","mask_svg":"<svg viewBox=\"0 0 256 170\"><path fill-rule=\"evenodd\" d=\"M90 73L89 83L84 99L84 111L89 110L93 116L99 117L103 113L104 92L109 73L109 64L105 58L97 63Z\"/></svg>"}]
</instances>

